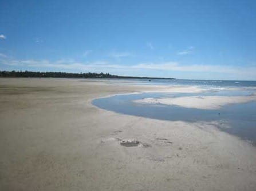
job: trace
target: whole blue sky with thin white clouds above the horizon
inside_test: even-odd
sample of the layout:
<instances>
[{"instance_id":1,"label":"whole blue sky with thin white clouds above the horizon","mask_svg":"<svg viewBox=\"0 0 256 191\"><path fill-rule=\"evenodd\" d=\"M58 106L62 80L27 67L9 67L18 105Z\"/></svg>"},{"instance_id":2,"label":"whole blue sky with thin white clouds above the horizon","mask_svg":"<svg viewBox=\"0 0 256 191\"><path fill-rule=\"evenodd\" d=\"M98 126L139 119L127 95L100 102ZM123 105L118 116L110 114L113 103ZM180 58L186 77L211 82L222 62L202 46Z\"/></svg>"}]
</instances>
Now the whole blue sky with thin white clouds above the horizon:
<instances>
[{"instance_id":1,"label":"whole blue sky with thin white clouds above the horizon","mask_svg":"<svg viewBox=\"0 0 256 191\"><path fill-rule=\"evenodd\" d=\"M256 1L0 0L0 70L256 80Z\"/></svg>"}]
</instances>

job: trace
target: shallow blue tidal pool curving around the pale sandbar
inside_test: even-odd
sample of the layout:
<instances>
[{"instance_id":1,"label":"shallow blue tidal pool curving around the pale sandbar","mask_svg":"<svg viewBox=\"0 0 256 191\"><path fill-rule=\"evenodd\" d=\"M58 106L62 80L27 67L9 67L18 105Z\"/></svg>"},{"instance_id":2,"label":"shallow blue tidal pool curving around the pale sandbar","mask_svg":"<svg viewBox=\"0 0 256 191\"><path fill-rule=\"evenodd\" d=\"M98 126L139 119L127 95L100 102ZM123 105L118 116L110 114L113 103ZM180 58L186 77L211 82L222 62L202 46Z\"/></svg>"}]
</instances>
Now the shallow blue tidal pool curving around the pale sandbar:
<instances>
[{"instance_id":1,"label":"shallow blue tidal pool curving around the pale sandbar","mask_svg":"<svg viewBox=\"0 0 256 191\"><path fill-rule=\"evenodd\" d=\"M181 96L250 96L255 91L204 91L201 93L143 93L129 95L115 95L95 99L92 104L99 108L117 113L148 117L152 119L187 121L216 121L216 127L242 139L251 141L256 145L256 101L248 103L228 104L220 109L185 108L166 104L140 104L135 100L147 97L181 97Z\"/></svg>"}]
</instances>

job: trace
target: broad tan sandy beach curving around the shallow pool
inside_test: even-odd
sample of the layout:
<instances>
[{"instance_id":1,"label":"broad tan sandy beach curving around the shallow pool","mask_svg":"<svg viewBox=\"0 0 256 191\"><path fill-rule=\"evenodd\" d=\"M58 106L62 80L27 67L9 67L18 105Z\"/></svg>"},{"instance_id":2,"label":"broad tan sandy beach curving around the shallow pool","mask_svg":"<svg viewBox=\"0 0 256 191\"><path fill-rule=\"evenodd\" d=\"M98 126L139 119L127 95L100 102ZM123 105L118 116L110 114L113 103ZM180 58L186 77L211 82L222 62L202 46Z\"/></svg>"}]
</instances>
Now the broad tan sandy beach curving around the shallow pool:
<instances>
[{"instance_id":1,"label":"broad tan sandy beach curving around the shallow pool","mask_svg":"<svg viewBox=\"0 0 256 191\"><path fill-rule=\"evenodd\" d=\"M0 79L0 190L256 190L249 143L211 124L121 115L90 103L154 90L177 88Z\"/></svg>"}]
</instances>

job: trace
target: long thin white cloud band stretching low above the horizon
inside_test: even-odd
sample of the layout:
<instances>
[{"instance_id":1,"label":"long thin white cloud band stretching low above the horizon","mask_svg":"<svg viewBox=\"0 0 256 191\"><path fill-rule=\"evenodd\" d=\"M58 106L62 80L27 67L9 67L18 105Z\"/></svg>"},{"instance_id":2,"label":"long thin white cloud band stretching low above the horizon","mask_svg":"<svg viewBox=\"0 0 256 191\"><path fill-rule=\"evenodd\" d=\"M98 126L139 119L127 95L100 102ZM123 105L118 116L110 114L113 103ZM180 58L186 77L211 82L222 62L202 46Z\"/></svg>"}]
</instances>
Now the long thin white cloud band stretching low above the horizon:
<instances>
[{"instance_id":1,"label":"long thin white cloud band stretching low above the horizon","mask_svg":"<svg viewBox=\"0 0 256 191\"><path fill-rule=\"evenodd\" d=\"M185 65L178 62L162 62L162 63L138 63L138 64L109 64L109 62L100 60L96 62L76 62L72 59L62 59L54 62L49 60L2 60L2 63L7 65L23 65L23 66L36 66L36 67L58 67L58 68L72 68L71 66L86 67L111 67L111 68L139 68L139 69L152 69L152 70L170 70L170 71L187 71L187 72L223 72L233 73L241 70L248 70L248 67L238 66L220 66L220 65L207 65L207 64L192 64ZM76 68L76 67L74 67ZM250 66L256 72L256 66ZM255 73L256 74L256 73Z\"/></svg>"}]
</instances>

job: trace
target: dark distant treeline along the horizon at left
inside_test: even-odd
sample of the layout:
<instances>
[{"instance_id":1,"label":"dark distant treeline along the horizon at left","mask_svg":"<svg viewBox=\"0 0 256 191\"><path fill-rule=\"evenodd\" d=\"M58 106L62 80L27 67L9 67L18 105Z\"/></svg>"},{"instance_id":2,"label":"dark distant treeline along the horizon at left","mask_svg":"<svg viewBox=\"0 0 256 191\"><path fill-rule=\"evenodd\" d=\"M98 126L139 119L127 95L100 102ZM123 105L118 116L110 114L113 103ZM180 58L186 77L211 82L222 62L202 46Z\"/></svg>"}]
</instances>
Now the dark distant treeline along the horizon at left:
<instances>
[{"instance_id":1,"label":"dark distant treeline along the horizon at left","mask_svg":"<svg viewBox=\"0 0 256 191\"><path fill-rule=\"evenodd\" d=\"M135 76L117 76L109 73L66 73L66 72L31 72L31 71L0 71L0 77L9 78L134 78L134 79L175 79L149 78Z\"/></svg>"}]
</instances>

